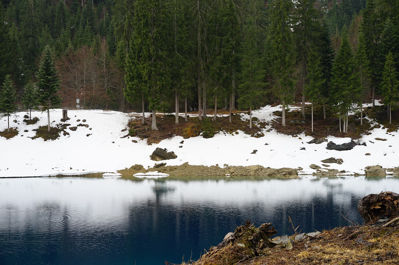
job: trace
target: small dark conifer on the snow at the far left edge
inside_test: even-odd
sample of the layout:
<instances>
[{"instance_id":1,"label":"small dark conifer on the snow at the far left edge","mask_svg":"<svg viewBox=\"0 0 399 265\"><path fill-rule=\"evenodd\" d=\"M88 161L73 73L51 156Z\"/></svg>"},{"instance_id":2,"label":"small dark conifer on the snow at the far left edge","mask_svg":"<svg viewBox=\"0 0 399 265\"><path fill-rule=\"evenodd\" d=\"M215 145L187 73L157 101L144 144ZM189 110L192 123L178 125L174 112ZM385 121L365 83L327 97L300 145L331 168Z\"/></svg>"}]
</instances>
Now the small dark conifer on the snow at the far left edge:
<instances>
[{"instance_id":1,"label":"small dark conifer on the snow at the far left edge","mask_svg":"<svg viewBox=\"0 0 399 265\"><path fill-rule=\"evenodd\" d=\"M10 133L10 115L17 110L17 97L14 85L12 84L11 76L7 75L0 90L0 113L7 116L8 133Z\"/></svg>"}]
</instances>

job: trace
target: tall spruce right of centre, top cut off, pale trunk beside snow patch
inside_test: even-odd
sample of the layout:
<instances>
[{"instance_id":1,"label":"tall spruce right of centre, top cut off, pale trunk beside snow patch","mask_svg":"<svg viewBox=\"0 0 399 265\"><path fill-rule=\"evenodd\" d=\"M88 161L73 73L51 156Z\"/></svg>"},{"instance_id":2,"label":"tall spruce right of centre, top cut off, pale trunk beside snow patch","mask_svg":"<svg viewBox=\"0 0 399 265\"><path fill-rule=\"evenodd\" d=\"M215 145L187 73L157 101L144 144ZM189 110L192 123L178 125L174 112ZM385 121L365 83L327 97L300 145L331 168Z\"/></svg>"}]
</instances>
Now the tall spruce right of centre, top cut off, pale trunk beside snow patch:
<instances>
[{"instance_id":1,"label":"tall spruce right of centre, top cut off, pale trunk beside snow patch","mask_svg":"<svg viewBox=\"0 0 399 265\"><path fill-rule=\"evenodd\" d=\"M294 49L292 43L292 1L274 0L269 4L273 89L282 105L281 125L285 125L286 107L294 100Z\"/></svg>"}]
</instances>

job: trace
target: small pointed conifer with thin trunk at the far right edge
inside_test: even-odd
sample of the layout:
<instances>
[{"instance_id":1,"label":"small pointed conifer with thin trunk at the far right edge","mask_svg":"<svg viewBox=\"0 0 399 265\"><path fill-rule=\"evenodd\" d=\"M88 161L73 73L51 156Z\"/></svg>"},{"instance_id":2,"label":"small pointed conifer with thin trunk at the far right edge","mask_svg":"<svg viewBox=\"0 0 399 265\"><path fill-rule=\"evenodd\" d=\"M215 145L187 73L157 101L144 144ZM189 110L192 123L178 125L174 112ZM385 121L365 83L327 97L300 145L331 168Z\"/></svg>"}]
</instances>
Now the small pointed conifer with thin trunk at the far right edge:
<instances>
[{"instance_id":1,"label":"small pointed conifer with thin trunk at the far right edge","mask_svg":"<svg viewBox=\"0 0 399 265\"><path fill-rule=\"evenodd\" d=\"M381 94L384 97L382 103L389 109L389 124L392 122L392 109L398 108L399 100L399 81L397 80L397 71L394 66L392 52L389 52L384 71L382 73Z\"/></svg>"}]
</instances>

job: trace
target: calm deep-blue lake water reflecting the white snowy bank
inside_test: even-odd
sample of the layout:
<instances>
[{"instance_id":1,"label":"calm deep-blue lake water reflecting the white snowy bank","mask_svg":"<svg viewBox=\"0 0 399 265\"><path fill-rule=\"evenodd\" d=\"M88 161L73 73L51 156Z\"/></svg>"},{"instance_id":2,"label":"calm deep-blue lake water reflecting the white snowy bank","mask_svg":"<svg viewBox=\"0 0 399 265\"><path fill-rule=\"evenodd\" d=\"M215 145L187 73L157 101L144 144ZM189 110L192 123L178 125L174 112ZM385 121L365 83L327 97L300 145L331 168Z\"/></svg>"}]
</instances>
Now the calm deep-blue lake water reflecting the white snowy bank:
<instances>
[{"instance_id":1,"label":"calm deep-blue lake water reflecting the white snowy bank","mask_svg":"<svg viewBox=\"0 0 399 265\"><path fill-rule=\"evenodd\" d=\"M278 235L363 223L358 200L398 178L0 179L0 264L198 259L251 219Z\"/></svg>"}]
</instances>

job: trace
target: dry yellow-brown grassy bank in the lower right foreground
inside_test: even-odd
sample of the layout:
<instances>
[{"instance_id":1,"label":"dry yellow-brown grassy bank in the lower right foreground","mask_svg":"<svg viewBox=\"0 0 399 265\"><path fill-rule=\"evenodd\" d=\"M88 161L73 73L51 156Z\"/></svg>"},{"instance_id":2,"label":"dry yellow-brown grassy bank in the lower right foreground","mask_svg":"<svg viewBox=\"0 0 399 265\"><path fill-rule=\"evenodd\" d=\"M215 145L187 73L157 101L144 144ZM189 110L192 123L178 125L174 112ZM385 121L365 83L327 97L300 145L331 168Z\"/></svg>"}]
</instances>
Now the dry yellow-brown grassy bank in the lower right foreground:
<instances>
[{"instance_id":1,"label":"dry yellow-brown grassy bank in the lower right foreground","mask_svg":"<svg viewBox=\"0 0 399 265\"><path fill-rule=\"evenodd\" d=\"M388 222L389 223L389 222ZM198 261L182 265L280 265L280 264L399 264L399 225L346 226L325 230L316 237L294 240L292 249L279 246L259 251L254 244L239 244L255 238L245 235L227 246L205 253ZM236 230L237 231L237 230ZM256 232L256 231L255 231ZM259 233L259 232L258 232ZM294 236L291 237L292 239ZM261 255L256 256L254 252ZM167 263L170 264L170 263Z\"/></svg>"}]
</instances>

